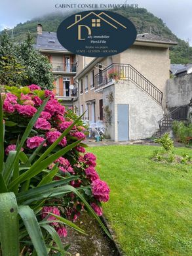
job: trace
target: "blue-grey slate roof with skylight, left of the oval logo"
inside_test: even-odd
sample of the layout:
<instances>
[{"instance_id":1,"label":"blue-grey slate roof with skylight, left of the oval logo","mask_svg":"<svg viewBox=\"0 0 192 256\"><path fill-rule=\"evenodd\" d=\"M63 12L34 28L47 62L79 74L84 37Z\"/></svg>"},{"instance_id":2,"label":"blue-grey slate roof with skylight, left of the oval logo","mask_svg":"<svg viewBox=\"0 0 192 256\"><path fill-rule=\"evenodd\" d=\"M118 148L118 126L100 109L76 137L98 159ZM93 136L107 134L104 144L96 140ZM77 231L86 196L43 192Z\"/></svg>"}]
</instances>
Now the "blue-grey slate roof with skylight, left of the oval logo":
<instances>
[{"instance_id":1,"label":"blue-grey slate roof with skylight, left of the oval logo","mask_svg":"<svg viewBox=\"0 0 192 256\"><path fill-rule=\"evenodd\" d=\"M42 34L37 35L35 49L67 51L58 41L55 32L42 32Z\"/></svg>"}]
</instances>

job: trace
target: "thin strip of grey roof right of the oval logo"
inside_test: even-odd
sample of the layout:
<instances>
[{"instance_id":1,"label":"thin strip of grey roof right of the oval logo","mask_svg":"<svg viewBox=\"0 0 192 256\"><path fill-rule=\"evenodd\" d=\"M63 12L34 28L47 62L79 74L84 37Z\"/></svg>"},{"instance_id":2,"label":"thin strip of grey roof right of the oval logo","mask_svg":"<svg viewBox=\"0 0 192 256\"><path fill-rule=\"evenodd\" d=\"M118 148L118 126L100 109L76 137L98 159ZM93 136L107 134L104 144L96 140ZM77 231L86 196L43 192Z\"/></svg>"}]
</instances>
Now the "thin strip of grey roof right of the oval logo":
<instances>
[{"instance_id":1,"label":"thin strip of grey roof right of the oval logo","mask_svg":"<svg viewBox=\"0 0 192 256\"><path fill-rule=\"evenodd\" d=\"M176 41L160 37L159 35L153 35L152 33L141 33L137 35L136 41L144 41L151 43L165 43L167 45L177 45Z\"/></svg>"}]
</instances>

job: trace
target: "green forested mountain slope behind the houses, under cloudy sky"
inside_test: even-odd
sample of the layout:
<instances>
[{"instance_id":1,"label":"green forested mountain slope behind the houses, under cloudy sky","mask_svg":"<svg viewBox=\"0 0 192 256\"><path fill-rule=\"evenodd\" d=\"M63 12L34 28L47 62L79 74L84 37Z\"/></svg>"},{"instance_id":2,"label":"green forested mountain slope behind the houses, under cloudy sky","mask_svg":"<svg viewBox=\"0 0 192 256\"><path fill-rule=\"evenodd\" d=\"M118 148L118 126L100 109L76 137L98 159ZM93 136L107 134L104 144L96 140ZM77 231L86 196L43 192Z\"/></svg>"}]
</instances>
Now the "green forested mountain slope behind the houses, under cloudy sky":
<instances>
[{"instance_id":1,"label":"green forested mountain slope behind the houses, under cloudy sky","mask_svg":"<svg viewBox=\"0 0 192 256\"><path fill-rule=\"evenodd\" d=\"M170 49L171 62L176 64L192 63L192 47L189 47L189 43L176 37L176 35L171 32L166 24L164 24L161 18L157 18L144 8L121 8L113 9L111 11L117 12L126 18L129 18L136 26L138 33L151 32L155 35L160 35L168 39L178 41L178 45ZM37 36L37 24L39 23L43 25L43 31L56 32L62 20L72 13L73 12L66 12L65 15L62 13L52 13L41 18L29 20L23 24L20 23L14 27L14 40L17 42L23 41L28 32L31 33L33 39L35 40ZM10 31L9 33L11 35L12 32Z\"/></svg>"}]
</instances>

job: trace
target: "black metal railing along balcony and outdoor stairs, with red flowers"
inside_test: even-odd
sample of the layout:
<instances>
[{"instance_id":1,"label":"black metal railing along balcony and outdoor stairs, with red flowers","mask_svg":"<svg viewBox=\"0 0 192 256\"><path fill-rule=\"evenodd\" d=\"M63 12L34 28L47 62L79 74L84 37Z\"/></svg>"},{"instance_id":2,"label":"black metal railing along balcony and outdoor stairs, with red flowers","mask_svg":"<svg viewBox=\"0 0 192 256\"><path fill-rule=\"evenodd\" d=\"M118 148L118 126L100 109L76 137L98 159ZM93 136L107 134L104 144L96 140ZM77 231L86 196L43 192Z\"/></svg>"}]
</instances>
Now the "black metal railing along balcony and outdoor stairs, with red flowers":
<instances>
[{"instance_id":1,"label":"black metal railing along balcony and outdoor stairs, with red flowers","mask_svg":"<svg viewBox=\"0 0 192 256\"><path fill-rule=\"evenodd\" d=\"M156 102L162 104L163 93L151 83L144 75L140 74L138 70L136 70L130 64L118 64L113 63L104 70L100 70L98 74L95 75L96 86L95 90L102 89L106 87L109 83L115 80L128 80L130 79L138 87L143 89L145 93L150 95Z\"/></svg>"}]
</instances>

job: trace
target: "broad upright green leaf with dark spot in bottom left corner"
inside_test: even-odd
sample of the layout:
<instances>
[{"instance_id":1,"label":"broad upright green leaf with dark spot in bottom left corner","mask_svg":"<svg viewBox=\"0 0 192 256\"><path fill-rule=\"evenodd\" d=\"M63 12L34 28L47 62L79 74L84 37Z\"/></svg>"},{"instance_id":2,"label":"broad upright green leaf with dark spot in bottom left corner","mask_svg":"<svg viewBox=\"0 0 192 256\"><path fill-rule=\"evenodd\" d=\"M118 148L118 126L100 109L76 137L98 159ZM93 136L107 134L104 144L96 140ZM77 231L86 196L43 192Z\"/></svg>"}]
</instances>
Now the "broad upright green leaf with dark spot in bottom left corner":
<instances>
[{"instance_id":1,"label":"broad upright green leaf with dark spot in bottom left corner","mask_svg":"<svg viewBox=\"0 0 192 256\"><path fill-rule=\"evenodd\" d=\"M14 193L1 193L0 205L0 240L3 256L19 255L18 205Z\"/></svg>"}]
</instances>

